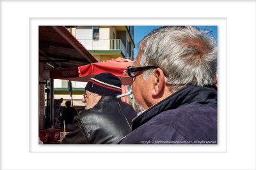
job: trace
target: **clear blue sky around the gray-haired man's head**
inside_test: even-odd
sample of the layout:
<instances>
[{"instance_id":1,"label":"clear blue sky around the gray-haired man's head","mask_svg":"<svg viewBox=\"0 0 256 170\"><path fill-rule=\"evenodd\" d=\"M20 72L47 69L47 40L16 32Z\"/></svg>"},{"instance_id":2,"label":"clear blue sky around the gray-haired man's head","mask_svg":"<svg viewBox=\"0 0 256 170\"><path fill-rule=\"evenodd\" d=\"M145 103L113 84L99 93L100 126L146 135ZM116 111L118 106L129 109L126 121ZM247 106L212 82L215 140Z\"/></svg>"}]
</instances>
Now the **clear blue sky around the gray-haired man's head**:
<instances>
[{"instance_id":1,"label":"clear blue sky around the gray-haired man's head","mask_svg":"<svg viewBox=\"0 0 256 170\"><path fill-rule=\"evenodd\" d=\"M143 39L144 36L147 36L149 32L151 32L153 29L157 29L161 26L152 25L152 26L135 26L134 25L134 57L138 55L138 43L140 43L140 40ZM212 36L214 36L214 39L216 41L216 45L218 44L218 27L217 26L196 26L200 30L208 29L212 32Z\"/></svg>"}]
</instances>

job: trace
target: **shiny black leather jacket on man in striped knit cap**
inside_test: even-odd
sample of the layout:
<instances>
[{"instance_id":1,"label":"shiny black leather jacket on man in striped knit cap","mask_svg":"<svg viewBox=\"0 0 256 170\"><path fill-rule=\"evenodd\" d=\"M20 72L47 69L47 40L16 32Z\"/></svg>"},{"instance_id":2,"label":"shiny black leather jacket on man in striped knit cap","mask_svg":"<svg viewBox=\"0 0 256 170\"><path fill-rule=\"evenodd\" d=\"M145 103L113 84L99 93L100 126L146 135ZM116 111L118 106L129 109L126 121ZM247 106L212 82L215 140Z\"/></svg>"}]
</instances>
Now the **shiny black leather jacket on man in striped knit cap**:
<instances>
[{"instance_id":1,"label":"shiny black leather jacket on man in striped knit cap","mask_svg":"<svg viewBox=\"0 0 256 170\"><path fill-rule=\"evenodd\" d=\"M118 143L131 132L133 108L116 99L105 96L90 110L74 117L73 131L65 136L63 144L107 144Z\"/></svg>"}]
</instances>

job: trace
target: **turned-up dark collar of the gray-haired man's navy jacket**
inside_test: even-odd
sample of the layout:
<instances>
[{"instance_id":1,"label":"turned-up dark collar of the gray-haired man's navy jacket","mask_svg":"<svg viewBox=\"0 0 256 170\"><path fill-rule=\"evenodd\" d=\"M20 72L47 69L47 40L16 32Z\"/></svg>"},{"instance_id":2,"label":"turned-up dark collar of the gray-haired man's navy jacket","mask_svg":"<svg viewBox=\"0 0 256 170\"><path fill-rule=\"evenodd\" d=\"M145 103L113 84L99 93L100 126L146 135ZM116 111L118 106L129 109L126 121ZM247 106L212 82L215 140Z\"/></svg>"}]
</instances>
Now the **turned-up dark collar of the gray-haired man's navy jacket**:
<instances>
[{"instance_id":1,"label":"turned-up dark collar of the gray-haired man's navy jacket","mask_svg":"<svg viewBox=\"0 0 256 170\"><path fill-rule=\"evenodd\" d=\"M217 88L215 86L198 87L195 85L188 85L187 87L180 89L134 118L134 120L132 120L132 131L163 111L199 103L217 104Z\"/></svg>"}]
</instances>

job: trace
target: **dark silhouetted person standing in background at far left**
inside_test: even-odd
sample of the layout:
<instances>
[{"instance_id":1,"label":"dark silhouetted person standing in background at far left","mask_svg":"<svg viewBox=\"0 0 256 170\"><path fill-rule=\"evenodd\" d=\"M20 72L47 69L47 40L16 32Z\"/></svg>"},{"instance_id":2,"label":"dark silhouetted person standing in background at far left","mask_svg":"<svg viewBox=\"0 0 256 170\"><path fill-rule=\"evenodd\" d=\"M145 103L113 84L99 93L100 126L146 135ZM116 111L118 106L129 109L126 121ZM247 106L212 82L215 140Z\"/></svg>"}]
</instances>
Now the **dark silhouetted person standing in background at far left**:
<instances>
[{"instance_id":1,"label":"dark silhouetted person standing in background at far left","mask_svg":"<svg viewBox=\"0 0 256 170\"><path fill-rule=\"evenodd\" d=\"M61 127L64 127L63 122L65 120L65 128L68 129L73 129L73 119L77 115L76 109L71 107L71 101L66 101L66 106L62 111L62 116L61 116Z\"/></svg>"}]
</instances>

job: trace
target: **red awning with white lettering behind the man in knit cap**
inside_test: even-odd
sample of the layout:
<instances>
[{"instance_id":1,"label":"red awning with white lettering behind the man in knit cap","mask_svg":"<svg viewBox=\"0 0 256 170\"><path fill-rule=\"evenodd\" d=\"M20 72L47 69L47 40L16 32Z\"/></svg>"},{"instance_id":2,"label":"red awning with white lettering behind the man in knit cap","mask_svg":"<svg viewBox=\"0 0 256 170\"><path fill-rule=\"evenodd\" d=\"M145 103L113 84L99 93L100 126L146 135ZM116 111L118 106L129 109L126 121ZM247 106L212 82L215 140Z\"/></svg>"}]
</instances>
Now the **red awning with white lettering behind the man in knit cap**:
<instances>
[{"instance_id":1,"label":"red awning with white lettering behind the man in knit cap","mask_svg":"<svg viewBox=\"0 0 256 170\"><path fill-rule=\"evenodd\" d=\"M111 59L80 67L54 70L50 72L50 77L54 79L88 82L93 76L108 72L118 76L122 84L131 85L132 80L131 77L128 76L126 68L132 66L133 62L134 61L122 58Z\"/></svg>"}]
</instances>

